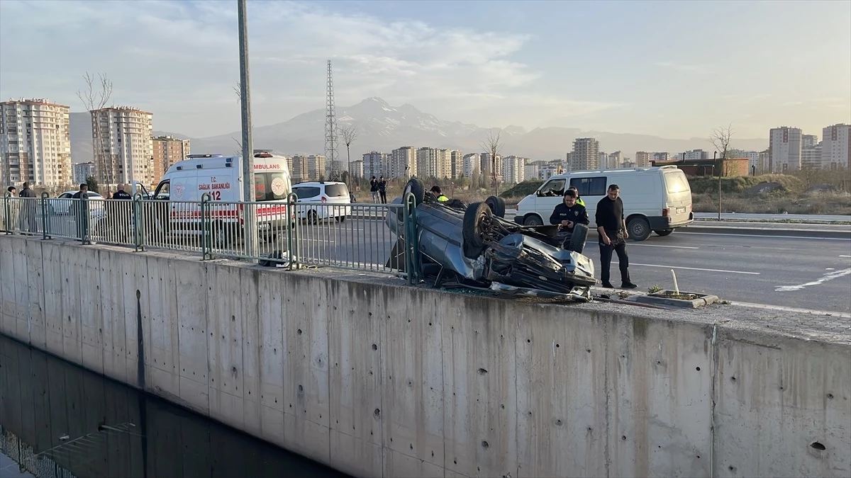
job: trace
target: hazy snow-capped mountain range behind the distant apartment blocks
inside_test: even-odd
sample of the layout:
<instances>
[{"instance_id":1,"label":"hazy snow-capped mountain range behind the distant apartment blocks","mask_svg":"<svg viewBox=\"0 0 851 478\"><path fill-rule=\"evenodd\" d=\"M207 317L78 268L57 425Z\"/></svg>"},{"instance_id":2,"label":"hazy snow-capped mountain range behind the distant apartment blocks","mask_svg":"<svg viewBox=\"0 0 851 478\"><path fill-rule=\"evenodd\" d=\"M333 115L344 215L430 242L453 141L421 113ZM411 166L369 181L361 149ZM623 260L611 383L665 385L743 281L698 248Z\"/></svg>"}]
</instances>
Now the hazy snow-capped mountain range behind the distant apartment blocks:
<instances>
[{"instance_id":1,"label":"hazy snow-capped mountain range behind the distant apartment blocks","mask_svg":"<svg viewBox=\"0 0 851 478\"><path fill-rule=\"evenodd\" d=\"M156 122L156 116L154 121ZM89 113L71 113L71 157L74 162L89 161L92 155ZM391 106L380 98L368 98L357 105L337 110L338 126L357 124L358 138L351 145L351 160L361 159L368 151L385 151L399 146L431 146L461 151L479 151L488 128L463 122L443 121L422 112L413 105ZM286 122L254 128L254 147L285 154L322 154L325 148L325 110L317 109ZM179 133L155 132L186 138ZM207 138L191 138L193 153L234 154L239 150L235 131ZM708 136L708 134L707 134ZM600 141L601 151L622 151L634 158L636 151L668 151L677 153L693 149L711 151L706 138L665 139L643 134L620 134L583 131L579 128L503 128L503 154L527 156L534 160L565 157L576 138L593 137ZM236 140L235 140L236 139ZM768 139L734 139L733 146L745 151L768 148ZM346 145L338 149L346 160ZM83 159L78 159L83 157ZM88 158L88 159L85 159Z\"/></svg>"}]
</instances>

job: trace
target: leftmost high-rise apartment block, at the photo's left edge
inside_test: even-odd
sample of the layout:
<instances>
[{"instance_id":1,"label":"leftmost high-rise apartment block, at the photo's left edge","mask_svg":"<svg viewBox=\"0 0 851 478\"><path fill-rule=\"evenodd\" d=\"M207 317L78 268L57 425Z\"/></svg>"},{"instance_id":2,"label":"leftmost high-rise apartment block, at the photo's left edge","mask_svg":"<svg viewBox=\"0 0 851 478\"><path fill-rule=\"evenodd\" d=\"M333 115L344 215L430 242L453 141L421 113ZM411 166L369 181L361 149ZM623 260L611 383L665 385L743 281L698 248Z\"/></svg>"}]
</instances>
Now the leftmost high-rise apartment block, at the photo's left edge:
<instances>
[{"instance_id":1,"label":"leftmost high-rise apartment block, at the photo's left edge","mask_svg":"<svg viewBox=\"0 0 851 478\"><path fill-rule=\"evenodd\" d=\"M47 99L0 103L0 184L71 185L68 111Z\"/></svg>"}]
</instances>

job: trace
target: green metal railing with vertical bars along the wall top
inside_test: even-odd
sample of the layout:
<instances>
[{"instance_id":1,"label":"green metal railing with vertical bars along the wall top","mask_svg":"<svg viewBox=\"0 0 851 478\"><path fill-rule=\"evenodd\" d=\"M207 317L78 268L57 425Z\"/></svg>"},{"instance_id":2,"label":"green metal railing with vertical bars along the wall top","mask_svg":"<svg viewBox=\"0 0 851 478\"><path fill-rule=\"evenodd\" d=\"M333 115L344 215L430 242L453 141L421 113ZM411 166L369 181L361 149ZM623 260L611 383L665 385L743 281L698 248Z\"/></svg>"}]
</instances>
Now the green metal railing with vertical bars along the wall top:
<instances>
[{"instance_id":1,"label":"green metal railing with vertical bars along the wall top","mask_svg":"<svg viewBox=\"0 0 851 478\"><path fill-rule=\"evenodd\" d=\"M414 197L403 203L200 202L88 198L3 198L0 230L61 237L83 244L198 253L202 259L260 261L290 270L333 266L408 276L419 261L413 241L399 240L388 214L403 222L402 239L415 241ZM253 220L248 220L253 219ZM247 224L256 225L247 230ZM256 238L254 237L256 235Z\"/></svg>"}]
</instances>

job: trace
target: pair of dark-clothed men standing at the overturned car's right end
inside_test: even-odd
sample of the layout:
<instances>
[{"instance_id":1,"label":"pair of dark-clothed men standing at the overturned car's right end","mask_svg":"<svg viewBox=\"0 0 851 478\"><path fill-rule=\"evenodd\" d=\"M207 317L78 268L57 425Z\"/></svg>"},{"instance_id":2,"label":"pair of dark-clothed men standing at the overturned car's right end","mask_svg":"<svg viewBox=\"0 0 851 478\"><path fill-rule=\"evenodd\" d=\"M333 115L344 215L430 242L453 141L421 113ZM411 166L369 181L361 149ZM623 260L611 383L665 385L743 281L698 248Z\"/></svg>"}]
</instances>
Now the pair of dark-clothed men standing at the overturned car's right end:
<instances>
[{"instance_id":1,"label":"pair of dark-clothed men standing at the overturned car's right end","mask_svg":"<svg viewBox=\"0 0 851 478\"><path fill-rule=\"evenodd\" d=\"M597 202L595 213L597 223L597 243L600 246L600 282L603 287L614 288L612 285L609 269L612 265L612 254L618 256L618 268L620 269L620 287L634 289L638 287L630 280L630 259L626 254L626 240L630 238L626 230L624 217L624 202L620 199L620 187L609 185L606 197ZM585 202L580 198L579 191L570 186L564 191L563 202L553 209L550 216L550 224L559 225L563 230L573 232L577 224L588 225L588 211Z\"/></svg>"}]
</instances>

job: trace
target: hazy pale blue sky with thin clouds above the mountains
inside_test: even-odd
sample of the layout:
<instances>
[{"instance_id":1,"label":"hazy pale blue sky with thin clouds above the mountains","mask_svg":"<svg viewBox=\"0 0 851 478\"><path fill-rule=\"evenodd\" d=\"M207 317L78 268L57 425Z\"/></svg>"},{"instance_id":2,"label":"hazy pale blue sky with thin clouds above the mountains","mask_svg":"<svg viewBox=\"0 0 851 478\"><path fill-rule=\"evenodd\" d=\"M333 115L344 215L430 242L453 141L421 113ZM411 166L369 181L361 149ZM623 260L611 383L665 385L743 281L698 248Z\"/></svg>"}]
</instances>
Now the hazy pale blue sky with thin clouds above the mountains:
<instances>
[{"instance_id":1,"label":"hazy pale blue sky with thin clouds above the mountains","mask_svg":"<svg viewBox=\"0 0 851 478\"><path fill-rule=\"evenodd\" d=\"M482 127L740 138L851 122L851 2L248 2L254 124L380 96ZM239 129L236 0L0 1L0 98L84 111L85 71L154 128Z\"/></svg>"}]
</instances>

